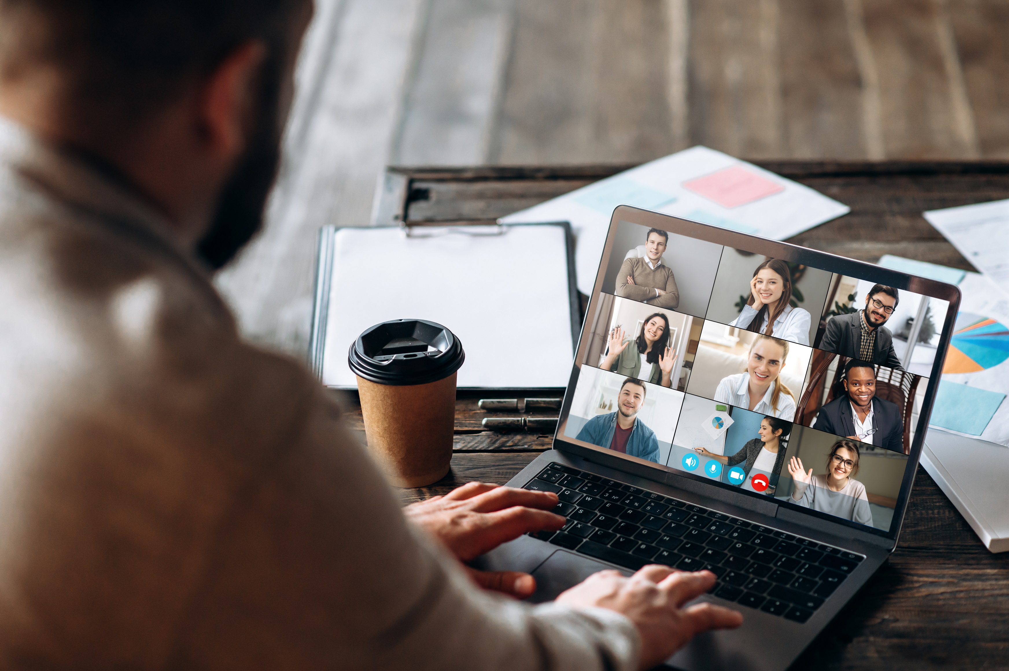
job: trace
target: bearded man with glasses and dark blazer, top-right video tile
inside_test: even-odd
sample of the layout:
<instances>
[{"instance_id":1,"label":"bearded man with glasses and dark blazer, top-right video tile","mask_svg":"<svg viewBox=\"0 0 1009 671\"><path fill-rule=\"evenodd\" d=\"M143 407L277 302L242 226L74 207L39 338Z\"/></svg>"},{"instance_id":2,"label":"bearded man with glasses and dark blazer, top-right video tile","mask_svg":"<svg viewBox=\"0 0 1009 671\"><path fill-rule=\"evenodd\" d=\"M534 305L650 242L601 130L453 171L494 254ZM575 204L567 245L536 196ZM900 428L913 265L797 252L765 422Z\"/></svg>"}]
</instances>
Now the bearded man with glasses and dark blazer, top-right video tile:
<instances>
[{"instance_id":1,"label":"bearded man with glasses and dark blazer, top-right video tile","mask_svg":"<svg viewBox=\"0 0 1009 671\"><path fill-rule=\"evenodd\" d=\"M893 351L893 333L883 325L898 303L900 295L897 289L874 285L866 296L865 309L838 314L826 322L819 349L903 371L900 359Z\"/></svg>"}]
</instances>

